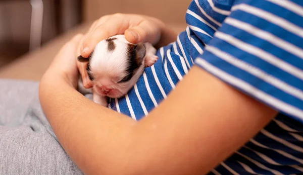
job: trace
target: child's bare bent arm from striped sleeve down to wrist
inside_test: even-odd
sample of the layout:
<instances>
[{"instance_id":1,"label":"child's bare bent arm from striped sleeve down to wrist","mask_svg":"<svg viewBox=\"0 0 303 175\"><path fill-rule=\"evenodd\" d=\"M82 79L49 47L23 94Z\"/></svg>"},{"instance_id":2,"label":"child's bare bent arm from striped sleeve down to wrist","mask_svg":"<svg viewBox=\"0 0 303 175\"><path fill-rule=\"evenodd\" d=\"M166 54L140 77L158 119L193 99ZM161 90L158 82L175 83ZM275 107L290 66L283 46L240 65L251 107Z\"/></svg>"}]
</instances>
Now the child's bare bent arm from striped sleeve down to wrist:
<instances>
[{"instance_id":1,"label":"child's bare bent arm from striped sleeve down to wrist","mask_svg":"<svg viewBox=\"0 0 303 175\"><path fill-rule=\"evenodd\" d=\"M48 70L40 101L60 143L86 174L204 174L277 113L195 66L138 122L94 104L71 84Z\"/></svg>"}]
</instances>

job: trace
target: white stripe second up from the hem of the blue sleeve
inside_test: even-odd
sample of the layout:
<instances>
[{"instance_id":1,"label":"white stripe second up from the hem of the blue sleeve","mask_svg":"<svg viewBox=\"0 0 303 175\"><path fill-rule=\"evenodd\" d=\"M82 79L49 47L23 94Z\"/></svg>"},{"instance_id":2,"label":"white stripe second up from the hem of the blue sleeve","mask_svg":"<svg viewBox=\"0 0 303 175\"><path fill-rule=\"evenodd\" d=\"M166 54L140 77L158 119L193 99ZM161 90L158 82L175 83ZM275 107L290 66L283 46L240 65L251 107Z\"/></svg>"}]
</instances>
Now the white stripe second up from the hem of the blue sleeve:
<instances>
[{"instance_id":1,"label":"white stripe second up from the hem of the blue sleeve","mask_svg":"<svg viewBox=\"0 0 303 175\"><path fill-rule=\"evenodd\" d=\"M218 48L215 48L213 46L207 46L205 48L206 50L210 51L214 55L218 56L219 58L229 62L230 64L249 72L252 75L255 75L256 77L263 79L264 81L272 84L276 88L300 99L303 101L303 92L291 85L289 85L287 82L284 82L266 72L264 72L262 69L259 69L249 63L246 63L238 58L233 57L232 55L223 52L222 50L219 50Z\"/></svg>"}]
</instances>

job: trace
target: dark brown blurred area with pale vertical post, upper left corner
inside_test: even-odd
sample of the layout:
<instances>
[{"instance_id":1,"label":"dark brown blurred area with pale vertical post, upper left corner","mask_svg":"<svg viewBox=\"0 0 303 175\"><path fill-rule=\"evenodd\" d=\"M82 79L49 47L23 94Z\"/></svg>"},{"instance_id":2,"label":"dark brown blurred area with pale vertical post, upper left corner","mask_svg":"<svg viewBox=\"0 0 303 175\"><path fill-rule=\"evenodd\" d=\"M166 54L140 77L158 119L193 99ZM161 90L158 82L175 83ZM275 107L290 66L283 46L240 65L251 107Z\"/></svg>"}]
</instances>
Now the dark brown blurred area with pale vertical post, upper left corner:
<instances>
[{"instance_id":1,"label":"dark brown blurred area with pale vertical post, upper left corner","mask_svg":"<svg viewBox=\"0 0 303 175\"><path fill-rule=\"evenodd\" d=\"M0 67L81 23L81 0L0 0Z\"/></svg>"}]
</instances>

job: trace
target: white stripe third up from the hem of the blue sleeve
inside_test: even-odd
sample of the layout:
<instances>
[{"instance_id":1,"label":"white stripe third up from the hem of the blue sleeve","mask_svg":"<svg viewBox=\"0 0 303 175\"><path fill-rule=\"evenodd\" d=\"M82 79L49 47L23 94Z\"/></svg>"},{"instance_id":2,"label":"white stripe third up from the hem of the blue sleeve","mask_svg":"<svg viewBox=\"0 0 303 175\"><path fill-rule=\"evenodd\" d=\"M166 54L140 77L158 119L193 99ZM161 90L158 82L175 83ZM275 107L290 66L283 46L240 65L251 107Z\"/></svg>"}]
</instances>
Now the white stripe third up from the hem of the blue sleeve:
<instances>
[{"instance_id":1,"label":"white stripe third up from the hem of the blue sleeve","mask_svg":"<svg viewBox=\"0 0 303 175\"><path fill-rule=\"evenodd\" d=\"M245 43L231 35L227 35L225 33L216 32L215 36L228 42L231 45L236 46L239 49L242 49L243 51L250 53L251 55L255 55L259 57L260 59L263 59L276 67L279 67L280 69L292 74L293 76L298 77L299 79L303 80L303 71L301 69L296 68L295 66L281 60L280 58L272 55L271 53L268 53L258 47L255 47L253 45L250 45L248 43Z\"/></svg>"}]
</instances>

